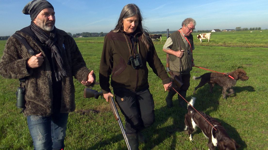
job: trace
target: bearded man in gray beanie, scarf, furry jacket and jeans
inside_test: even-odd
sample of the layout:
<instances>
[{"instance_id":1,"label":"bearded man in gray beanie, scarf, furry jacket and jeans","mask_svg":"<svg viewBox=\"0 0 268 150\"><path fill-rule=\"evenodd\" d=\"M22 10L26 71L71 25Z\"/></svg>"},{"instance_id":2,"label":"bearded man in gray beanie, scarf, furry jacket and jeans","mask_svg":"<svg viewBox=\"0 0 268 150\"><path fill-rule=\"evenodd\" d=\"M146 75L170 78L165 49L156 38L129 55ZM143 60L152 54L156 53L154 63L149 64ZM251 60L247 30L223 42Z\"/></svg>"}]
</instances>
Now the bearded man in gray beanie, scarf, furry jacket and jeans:
<instances>
[{"instance_id":1,"label":"bearded man in gray beanie, scarf, furry jacket and jeans","mask_svg":"<svg viewBox=\"0 0 268 150\"><path fill-rule=\"evenodd\" d=\"M33 0L22 12L30 15L31 25L7 40L0 74L24 79L20 80L25 91L22 112L34 149L64 149L69 112L75 110L73 77L82 85L93 86L95 74L86 67L74 39L55 27L51 3Z\"/></svg>"}]
</instances>

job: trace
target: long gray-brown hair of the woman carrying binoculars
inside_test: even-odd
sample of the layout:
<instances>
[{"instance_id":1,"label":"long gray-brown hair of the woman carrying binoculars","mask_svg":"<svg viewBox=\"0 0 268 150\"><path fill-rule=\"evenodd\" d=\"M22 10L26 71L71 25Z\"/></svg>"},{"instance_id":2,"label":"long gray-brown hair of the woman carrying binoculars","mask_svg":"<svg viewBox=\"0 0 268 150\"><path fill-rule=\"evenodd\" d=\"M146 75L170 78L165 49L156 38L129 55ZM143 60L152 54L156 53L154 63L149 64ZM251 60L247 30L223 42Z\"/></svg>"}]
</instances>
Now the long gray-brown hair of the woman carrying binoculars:
<instances>
[{"instance_id":1,"label":"long gray-brown hair of the woman carrying binoculars","mask_svg":"<svg viewBox=\"0 0 268 150\"><path fill-rule=\"evenodd\" d=\"M139 30L142 32L141 40L146 45L147 49L149 49L149 39L148 32L146 29L143 29L142 27L142 14L140 13L140 9L136 4L128 4L125 5L121 11L121 14L119 16L118 22L113 32L123 32L123 19L132 17L134 15L137 15L139 17L139 25L137 26L136 30Z\"/></svg>"}]
</instances>

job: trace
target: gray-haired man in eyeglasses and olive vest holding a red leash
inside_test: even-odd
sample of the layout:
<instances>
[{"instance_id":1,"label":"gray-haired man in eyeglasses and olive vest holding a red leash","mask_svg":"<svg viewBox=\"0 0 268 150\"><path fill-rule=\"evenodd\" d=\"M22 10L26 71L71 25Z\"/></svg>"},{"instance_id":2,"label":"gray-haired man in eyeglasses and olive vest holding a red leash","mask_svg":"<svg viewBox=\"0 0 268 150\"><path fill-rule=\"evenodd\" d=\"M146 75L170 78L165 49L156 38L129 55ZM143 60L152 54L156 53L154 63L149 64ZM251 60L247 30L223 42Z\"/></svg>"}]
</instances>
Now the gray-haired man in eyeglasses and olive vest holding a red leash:
<instances>
[{"instance_id":1,"label":"gray-haired man in eyeglasses and olive vest holding a red leash","mask_svg":"<svg viewBox=\"0 0 268 150\"><path fill-rule=\"evenodd\" d=\"M193 45L193 35L191 34L195 30L196 22L192 18L186 18L181 23L181 28L176 32L169 35L163 51L169 54L170 70L173 74L178 76L183 85L178 88L175 84L172 85L174 89L184 98L186 92L190 86L190 71L192 70L193 53L195 49ZM173 78L172 78L173 80ZM174 83L174 82L173 82ZM173 89L170 89L166 97L167 107L173 107L172 97L176 94ZM178 94L178 101L181 107L186 107L186 102Z\"/></svg>"}]
</instances>

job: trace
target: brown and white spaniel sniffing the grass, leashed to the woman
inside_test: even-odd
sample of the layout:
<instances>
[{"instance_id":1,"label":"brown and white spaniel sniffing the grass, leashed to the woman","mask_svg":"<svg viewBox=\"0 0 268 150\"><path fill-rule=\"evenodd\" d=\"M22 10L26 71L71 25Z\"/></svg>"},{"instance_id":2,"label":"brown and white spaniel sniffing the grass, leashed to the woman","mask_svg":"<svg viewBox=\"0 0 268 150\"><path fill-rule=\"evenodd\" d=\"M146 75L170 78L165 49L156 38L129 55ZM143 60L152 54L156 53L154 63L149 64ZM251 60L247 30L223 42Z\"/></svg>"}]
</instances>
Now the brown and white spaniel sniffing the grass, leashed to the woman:
<instances>
[{"instance_id":1,"label":"brown and white spaniel sniffing the grass, leashed to the woman","mask_svg":"<svg viewBox=\"0 0 268 150\"><path fill-rule=\"evenodd\" d=\"M192 97L189 102L192 106L195 102L195 97ZM209 150L214 150L217 147L219 150L222 149L237 149L240 146L235 142L235 140L231 139L224 127L212 118L209 115L206 115L204 112L199 112L210 124L213 125L213 128L203 117L200 116L189 104L187 105L188 113L185 115L185 128L184 130L188 130L188 135L190 141L193 141L192 133L195 131L195 127L198 126L204 135L209 139L207 146Z\"/></svg>"}]
</instances>

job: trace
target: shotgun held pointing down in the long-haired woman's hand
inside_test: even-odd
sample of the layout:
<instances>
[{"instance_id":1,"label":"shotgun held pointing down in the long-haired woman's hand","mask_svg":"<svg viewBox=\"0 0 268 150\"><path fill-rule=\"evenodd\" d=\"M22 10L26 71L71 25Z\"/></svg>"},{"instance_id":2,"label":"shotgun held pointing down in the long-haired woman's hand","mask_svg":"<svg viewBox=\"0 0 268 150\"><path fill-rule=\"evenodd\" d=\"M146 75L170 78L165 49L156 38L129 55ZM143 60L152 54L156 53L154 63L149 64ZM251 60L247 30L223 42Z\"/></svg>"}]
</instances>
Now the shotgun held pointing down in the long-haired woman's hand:
<instances>
[{"instance_id":1,"label":"shotgun held pointing down in the long-haired woman's hand","mask_svg":"<svg viewBox=\"0 0 268 150\"><path fill-rule=\"evenodd\" d=\"M89 89L89 88L85 88L84 89L84 98L94 97L94 98L98 99L99 96L103 96L103 93L102 92L98 92L96 90ZM109 97L109 105L110 105L111 110L112 110L112 112L114 114L114 118L118 122L119 127L121 129L121 132L122 132L122 134L124 136L124 139L125 139L125 142L126 142L126 146L128 147L128 150L131 150L131 146L130 146L130 144L128 142L128 137L126 136L126 131L124 129L123 123L122 123L121 118L119 116L119 113L117 111L117 108L116 108L116 104L114 102L114 99L111 96Z\"/></svg>"}]
</instances>

